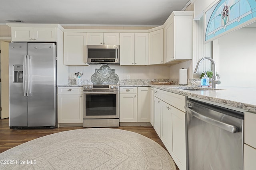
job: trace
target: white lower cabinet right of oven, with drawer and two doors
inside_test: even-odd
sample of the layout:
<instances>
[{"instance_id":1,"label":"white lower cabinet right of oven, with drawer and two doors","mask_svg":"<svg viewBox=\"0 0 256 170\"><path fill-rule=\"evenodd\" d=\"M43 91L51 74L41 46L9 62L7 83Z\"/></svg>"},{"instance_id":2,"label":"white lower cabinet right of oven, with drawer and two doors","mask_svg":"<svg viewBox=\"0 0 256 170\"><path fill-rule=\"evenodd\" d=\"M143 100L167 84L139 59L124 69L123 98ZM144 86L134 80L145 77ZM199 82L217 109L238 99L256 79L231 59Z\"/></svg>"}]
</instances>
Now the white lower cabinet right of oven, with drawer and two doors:
<instances>
[{"instance_id":1,"label":"white lower cabinet right of oven, with drawer and two doors","mask_svg":"<svg viewBox=\"0 0 256 170\"><path fill-rule=\"evenodd\" d=\"M122 122L150 122L150 87L120 87Z\"/></svg>"}]
</instances>

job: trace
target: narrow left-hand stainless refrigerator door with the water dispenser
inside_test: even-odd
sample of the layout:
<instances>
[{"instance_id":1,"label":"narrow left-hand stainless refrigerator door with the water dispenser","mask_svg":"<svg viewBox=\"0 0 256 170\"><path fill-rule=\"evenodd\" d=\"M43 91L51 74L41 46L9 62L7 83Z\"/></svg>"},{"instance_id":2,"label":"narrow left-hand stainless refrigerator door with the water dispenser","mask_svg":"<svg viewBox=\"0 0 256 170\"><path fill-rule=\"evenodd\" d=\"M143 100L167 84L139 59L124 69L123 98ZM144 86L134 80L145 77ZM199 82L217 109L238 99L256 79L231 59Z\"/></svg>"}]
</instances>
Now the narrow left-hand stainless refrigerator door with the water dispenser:
<instances>
[{"instance_id":1,"label":"narrow left-hand stainless refrigerator door with the water dispenser","mask_svg":"<svg viewBox=\"0 0 256 170\"><path fill-rule=\"evenodd\" d=\"M24 57L27 43L9 44L10 127L28 126L28 97L24 96Z\"/></svg>"}]
</instances>

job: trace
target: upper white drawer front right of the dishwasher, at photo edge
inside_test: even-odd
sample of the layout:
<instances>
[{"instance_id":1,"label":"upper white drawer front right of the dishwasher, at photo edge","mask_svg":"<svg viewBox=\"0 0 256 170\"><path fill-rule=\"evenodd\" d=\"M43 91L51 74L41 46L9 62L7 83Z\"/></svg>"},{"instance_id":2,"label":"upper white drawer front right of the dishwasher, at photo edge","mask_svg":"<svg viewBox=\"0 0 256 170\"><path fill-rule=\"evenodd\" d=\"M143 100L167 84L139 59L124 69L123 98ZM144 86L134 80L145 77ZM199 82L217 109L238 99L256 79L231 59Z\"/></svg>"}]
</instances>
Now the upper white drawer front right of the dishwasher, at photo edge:
<instances>
[{"instance_id":1,"label":"upper white drawer front right of the dishwasher, at photo edge","mask_svg":"<svg viewBox=\"0 0 256 170\"><path fill-rule=\"evenodd\" d=\"M256 148L256 113L244 113L244 143Z\"/></svg>"}]
</instances>

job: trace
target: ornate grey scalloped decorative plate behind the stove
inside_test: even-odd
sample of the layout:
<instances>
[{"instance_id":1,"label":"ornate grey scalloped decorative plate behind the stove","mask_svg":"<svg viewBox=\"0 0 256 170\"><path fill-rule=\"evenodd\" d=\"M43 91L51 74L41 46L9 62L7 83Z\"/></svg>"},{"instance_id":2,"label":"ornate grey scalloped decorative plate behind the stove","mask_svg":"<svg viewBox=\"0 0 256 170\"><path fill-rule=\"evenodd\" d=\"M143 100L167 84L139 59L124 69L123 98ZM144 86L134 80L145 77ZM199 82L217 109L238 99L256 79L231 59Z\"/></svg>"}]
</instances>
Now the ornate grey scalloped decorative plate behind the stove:
<instances>
[{"instance_id":1,"label":"ornate grey scalloped decorative plate behind the stove","mask_svg":"<svg viewBox=\"0 0 256 170\"><path fill-rule=\"evenodd\" d=\"M109 66L103 65L99 69L95 68L95 73L91 76L93 84L117 84L119 77L116 74L116 69L111 69Z\"/></svg>"}]
</instances>

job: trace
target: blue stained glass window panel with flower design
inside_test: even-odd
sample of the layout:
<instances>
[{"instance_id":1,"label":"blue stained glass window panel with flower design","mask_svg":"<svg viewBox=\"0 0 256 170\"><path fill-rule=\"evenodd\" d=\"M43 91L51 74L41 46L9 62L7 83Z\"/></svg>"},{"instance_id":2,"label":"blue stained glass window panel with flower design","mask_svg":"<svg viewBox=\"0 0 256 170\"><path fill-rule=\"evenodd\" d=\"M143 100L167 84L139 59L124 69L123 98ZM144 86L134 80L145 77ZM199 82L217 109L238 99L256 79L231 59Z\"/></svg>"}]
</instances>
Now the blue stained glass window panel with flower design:
<instances>
[{"instance_id":1,"label":"blue stained glass window panel with flower design","mask_svg":"<svg viewBox=\"0 0 256 170\"><path fill-rule=\"evenodd\" d=\"M256 19L256 0L220 0L205 12L205 41ZM230 30L231 31L231 30Z\"/></svg>"}]
</instances>

